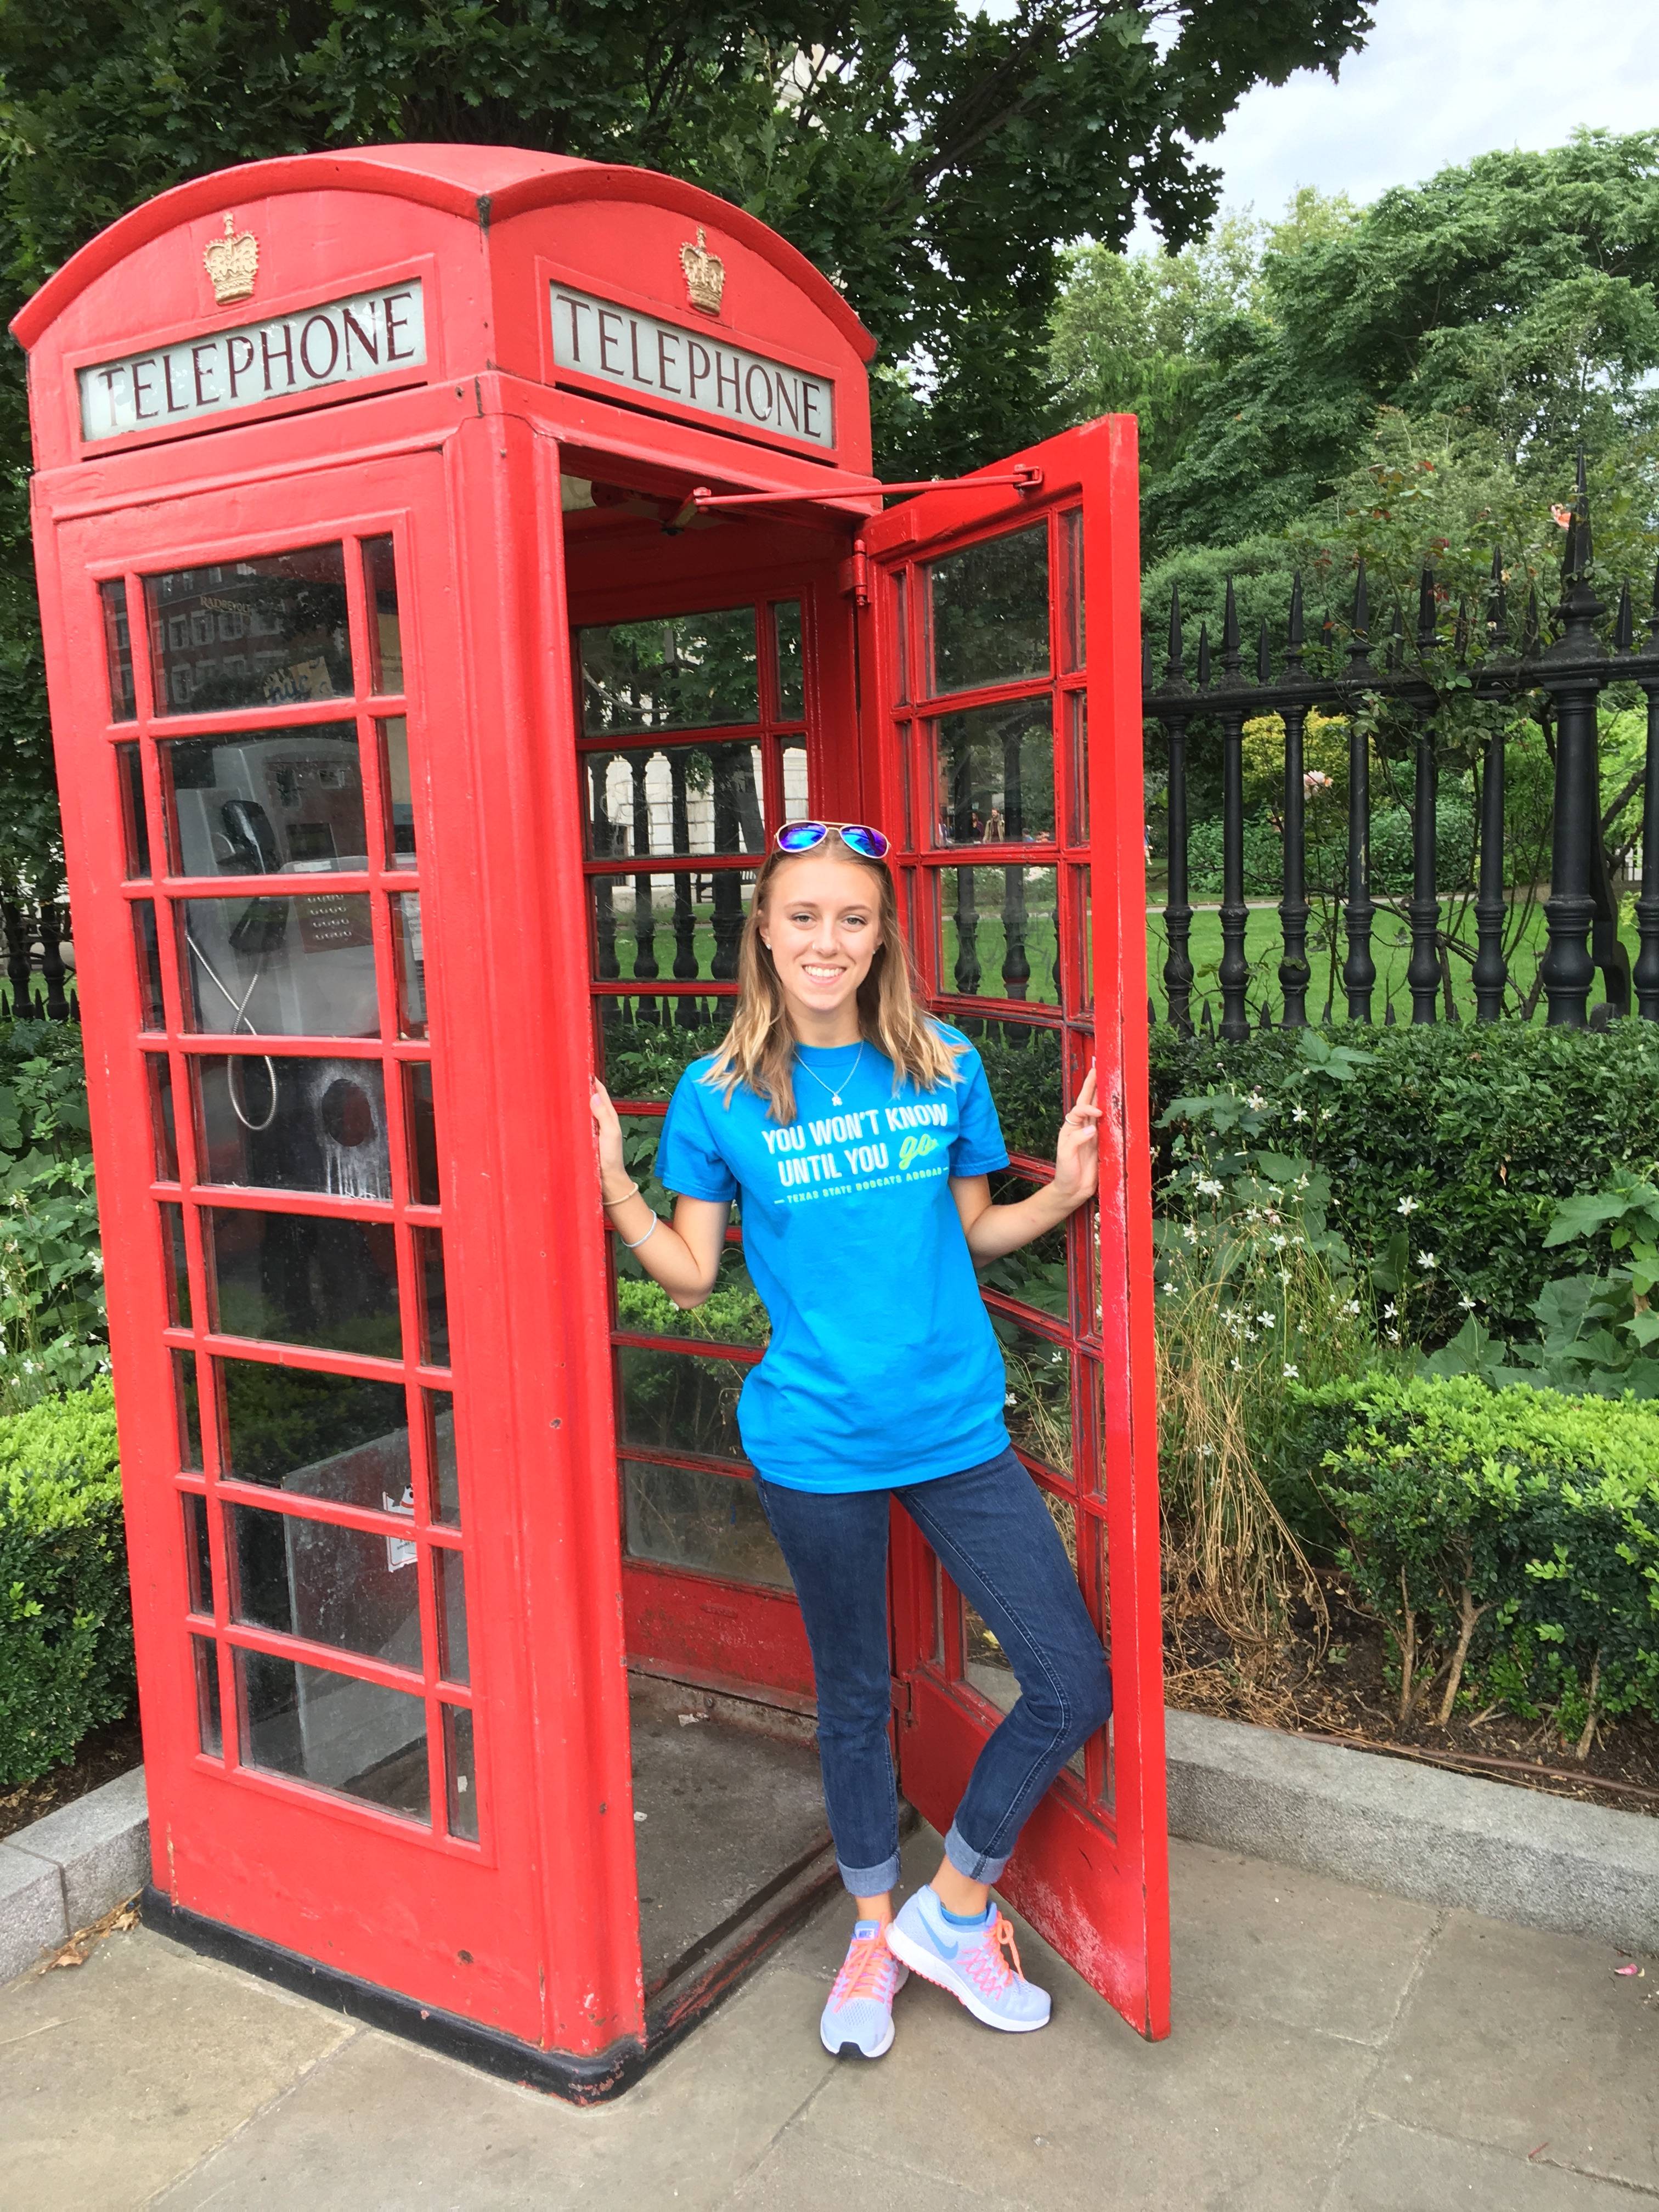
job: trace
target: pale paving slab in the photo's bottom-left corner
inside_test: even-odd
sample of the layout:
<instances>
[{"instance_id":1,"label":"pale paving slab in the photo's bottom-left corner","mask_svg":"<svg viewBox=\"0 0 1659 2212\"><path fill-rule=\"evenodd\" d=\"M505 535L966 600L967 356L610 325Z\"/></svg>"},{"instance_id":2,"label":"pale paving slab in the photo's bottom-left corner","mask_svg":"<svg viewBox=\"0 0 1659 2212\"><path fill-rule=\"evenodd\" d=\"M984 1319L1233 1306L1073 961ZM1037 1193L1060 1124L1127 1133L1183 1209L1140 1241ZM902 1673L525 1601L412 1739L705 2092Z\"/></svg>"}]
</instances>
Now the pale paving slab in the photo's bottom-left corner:
<instances>
[{"instance_id":1,"label":"pale paving slab in the photo's bottom-left corner","mask_svg":"<svg viewBox=\"0 0 1659 2212\"><path fill-rule=\"evenodd\" d=\"M137 2212L352 2031L144 1929L0 1993L0 2212Z\"/></svg>"}]
</instances>

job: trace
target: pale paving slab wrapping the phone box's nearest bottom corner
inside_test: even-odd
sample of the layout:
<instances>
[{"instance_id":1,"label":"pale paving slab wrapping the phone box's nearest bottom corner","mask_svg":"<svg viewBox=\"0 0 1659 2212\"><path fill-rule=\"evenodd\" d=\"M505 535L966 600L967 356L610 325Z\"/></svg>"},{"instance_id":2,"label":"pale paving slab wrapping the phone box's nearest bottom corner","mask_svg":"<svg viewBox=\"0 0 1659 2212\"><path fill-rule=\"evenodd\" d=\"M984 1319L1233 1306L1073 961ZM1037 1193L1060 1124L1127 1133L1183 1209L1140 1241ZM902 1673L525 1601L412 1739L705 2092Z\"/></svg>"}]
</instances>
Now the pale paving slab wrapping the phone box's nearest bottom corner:
<instances>
[{"instance_id":1,"label":"pale paving slab wrapping the phone box's nearest bottom corner","mask_svg":"<svg viewBox=\"0 0 1659 2212\"><path fill-rule=\"evenodd\" d=\"M363 2028L155 2212L712 2212L830 2075L821 2004L768 1973L597 2110Z\"/></svg>"}]
</instances>

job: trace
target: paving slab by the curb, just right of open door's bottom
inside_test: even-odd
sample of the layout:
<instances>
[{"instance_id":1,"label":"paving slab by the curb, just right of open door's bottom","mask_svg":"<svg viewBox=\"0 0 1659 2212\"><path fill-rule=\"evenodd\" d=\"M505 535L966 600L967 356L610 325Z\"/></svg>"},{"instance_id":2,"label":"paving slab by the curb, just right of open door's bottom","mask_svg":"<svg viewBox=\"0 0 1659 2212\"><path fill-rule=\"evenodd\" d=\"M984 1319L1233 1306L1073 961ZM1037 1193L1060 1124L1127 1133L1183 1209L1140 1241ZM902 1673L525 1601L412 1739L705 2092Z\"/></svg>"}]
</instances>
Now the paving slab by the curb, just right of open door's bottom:
<instances>
[{"instance_id":1,"label":"paving slab by the curb, just right of open door's bottom","mask_svg":"<svg viewBox=\"0 0 1659 2212\"><path fill-rule=\"evenodd\" d=\"M1440 1924L1431 1905L1270 1867L1201 1843L1170 1845L1172 1980L1181 2011L1378 2046Z\"/></svg>"}]
</instances>

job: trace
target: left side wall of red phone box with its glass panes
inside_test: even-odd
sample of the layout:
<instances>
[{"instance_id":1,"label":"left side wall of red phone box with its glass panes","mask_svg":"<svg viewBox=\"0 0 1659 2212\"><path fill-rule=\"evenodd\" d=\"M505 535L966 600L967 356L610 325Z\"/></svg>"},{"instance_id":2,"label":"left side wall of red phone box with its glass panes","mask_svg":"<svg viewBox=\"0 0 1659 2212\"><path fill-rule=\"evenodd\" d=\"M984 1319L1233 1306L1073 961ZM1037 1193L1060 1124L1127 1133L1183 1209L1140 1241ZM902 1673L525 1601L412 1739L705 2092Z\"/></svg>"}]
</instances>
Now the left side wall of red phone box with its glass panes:
<instances>
[{"instance_id":1,"label":"left side wall of red phone box with its glass panes","mask_svg":"<svg viewBox=\"0 0 1659 2212\"><path fill-rule=\"evenodd\" d=\"M53 703L155 1880L538 2044L442 471L60 524Z\"/></svg>"}]
</instances>

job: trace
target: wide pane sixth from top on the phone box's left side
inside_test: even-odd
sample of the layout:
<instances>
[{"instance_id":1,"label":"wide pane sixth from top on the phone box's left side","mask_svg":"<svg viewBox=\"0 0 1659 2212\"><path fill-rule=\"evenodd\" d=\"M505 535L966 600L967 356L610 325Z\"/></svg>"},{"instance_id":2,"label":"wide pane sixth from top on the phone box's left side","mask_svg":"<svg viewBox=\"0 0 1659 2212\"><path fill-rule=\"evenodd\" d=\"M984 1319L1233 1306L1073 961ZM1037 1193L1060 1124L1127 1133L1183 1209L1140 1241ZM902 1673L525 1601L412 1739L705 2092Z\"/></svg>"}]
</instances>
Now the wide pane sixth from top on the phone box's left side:
<instances>
[{"instance_id":1,"label":"wide pane sixth from top on the phone box's left side","mask_svg":"<svg viewBox=\"0 0 1659 2212\"><path fill-rule=\"evenodd\" d=\"M400 1383L215 1360L226 1402L226 1473L385 1513L409 1489Z\"/></svg>"}]
</instances>

